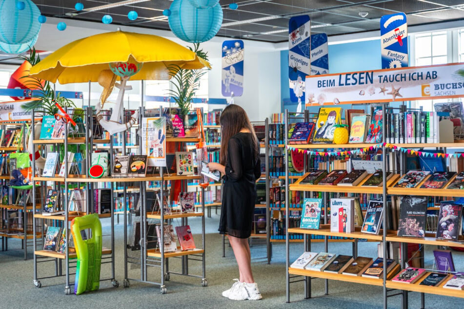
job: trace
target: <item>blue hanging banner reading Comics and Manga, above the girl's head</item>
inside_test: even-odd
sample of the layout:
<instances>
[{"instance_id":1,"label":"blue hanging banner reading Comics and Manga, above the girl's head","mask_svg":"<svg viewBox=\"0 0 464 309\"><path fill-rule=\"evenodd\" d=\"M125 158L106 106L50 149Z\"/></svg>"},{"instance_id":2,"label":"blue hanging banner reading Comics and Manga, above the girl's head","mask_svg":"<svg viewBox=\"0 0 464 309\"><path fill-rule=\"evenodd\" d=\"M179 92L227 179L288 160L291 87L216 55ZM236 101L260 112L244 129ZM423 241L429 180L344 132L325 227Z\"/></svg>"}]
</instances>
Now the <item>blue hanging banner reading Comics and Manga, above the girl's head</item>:
<instances>
[{"instance_id":1,"label":"blue hanging banner reading Comics and Manga, above the girl's head","mask_svg":"<svg viewBox=\"0 0 464 309\"><path fill-rule=\"evenodd\" d=\"M222 42L222 96L240 97L243 94L243 41Z\"/></svg>"}]
</instances>

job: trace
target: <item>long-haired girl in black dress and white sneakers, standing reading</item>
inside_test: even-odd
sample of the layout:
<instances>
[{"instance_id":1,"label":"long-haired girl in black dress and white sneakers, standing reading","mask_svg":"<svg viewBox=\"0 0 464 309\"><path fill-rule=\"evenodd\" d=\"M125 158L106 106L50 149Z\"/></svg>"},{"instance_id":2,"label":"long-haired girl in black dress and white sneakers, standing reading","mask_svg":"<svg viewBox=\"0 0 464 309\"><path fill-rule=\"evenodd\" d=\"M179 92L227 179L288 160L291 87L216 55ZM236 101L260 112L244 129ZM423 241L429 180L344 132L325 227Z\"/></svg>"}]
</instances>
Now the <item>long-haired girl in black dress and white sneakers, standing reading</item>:
<instances>
[{"instance_id":1,"label":"long-haired girl in black dress and white sneakers, standing reading","mask_svg":"<svg viewBox=\"0 0 464 309\"><path fill-rule=\"evenodd\" d=\"M222 296L232 300L259 300L260 290L251 271L248 237L253 225L256 179L261 176L260 145L242 107L227 106L221 114L221 163L210 162L210 171L223 179L219 232L227 234L239 266L239 279Z\"/></svg>"}]
</instances>

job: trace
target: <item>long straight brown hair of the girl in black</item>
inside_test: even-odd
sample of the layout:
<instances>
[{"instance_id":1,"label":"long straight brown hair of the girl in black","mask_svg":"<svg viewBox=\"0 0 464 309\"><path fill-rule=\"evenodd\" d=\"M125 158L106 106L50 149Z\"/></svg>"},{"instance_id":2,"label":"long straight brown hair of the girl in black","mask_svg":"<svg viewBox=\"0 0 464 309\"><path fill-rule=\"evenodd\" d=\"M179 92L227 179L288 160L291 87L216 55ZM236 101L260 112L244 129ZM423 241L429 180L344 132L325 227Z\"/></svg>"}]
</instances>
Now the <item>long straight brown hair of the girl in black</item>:
<instances>
[{"instance_id":1,"label":"long straight brown hair of the girl in black","mask_svg":"<svg viewBox=\"0 0 464 309\"><path fill-rule=\"evenodd\" d=\"M224 108L219 118L221 123L221 153L220 163L225 165L227 162L227 145L232 136L236 135L242 129L248 129L251 132L253 140L254 159L260 155L260 145L255 131L251 126L250 119L245 113L245 110L239 105L231 104Z\"/></svg>"}]
</instances>

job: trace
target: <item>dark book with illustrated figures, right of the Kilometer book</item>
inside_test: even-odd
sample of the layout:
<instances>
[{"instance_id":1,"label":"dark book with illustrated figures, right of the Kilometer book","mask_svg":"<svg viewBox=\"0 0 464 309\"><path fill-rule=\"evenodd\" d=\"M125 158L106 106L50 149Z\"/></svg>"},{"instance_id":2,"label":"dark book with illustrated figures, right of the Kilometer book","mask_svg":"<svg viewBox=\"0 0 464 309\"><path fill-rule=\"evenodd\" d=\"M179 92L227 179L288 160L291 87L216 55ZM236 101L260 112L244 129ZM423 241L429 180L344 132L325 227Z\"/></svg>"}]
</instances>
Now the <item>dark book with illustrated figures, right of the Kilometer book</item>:
<instances>
[{"instance_id":1,"label":"dark book with illustrated figures, right of the Kilometer book","mask_svg":"<svg viewBox=\"0 0 464 309\"><path fill-rule=\"evenodd\" d=\"M438 215L437 238L457 240L461 231L463 205L454 201L440 202Z\"/></svg>"}]
</instances>

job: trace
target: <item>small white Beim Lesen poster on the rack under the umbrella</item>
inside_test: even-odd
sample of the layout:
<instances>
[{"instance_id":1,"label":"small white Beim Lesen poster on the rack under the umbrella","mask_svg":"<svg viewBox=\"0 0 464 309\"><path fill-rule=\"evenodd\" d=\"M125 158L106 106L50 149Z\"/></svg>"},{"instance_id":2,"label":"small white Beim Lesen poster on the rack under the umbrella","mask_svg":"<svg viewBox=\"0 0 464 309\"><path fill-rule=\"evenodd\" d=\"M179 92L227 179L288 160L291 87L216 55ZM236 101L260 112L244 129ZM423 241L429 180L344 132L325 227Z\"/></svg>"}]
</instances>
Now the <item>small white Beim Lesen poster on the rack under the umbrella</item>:
<instances>
[{"instance_id":1,"label":"small white Beim Lesen poster on the rack under the umbrella","mask_svg":"<svg viewBox=\"0 0 464 309\"><path fill-rule=\"evenodd\" d=\"M166 118L142 118L142 155L147 166L166 166Z\"/></svg>"}]
</instances>

